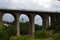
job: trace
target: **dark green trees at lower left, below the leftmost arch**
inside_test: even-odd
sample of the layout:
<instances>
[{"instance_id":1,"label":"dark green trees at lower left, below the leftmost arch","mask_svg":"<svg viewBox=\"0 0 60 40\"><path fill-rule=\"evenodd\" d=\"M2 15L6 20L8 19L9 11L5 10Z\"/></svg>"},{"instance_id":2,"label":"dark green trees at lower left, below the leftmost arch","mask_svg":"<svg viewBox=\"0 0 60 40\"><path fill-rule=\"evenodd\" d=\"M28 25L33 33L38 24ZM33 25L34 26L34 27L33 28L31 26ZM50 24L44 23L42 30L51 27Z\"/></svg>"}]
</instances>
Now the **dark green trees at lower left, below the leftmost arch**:
<instances>
[{"instance_id":1,"label":"dark green trees at lower left, below the leftmost arch","mask_svg":"<svg viewBox=\"0 0 60 40\"><path fill-rule=\"evenodd\" d=\"M0 27L0 40L9 40L11 35L16 35L15 28L10 24L9 26L3 25Z\"/></svg>"}]
</instances>

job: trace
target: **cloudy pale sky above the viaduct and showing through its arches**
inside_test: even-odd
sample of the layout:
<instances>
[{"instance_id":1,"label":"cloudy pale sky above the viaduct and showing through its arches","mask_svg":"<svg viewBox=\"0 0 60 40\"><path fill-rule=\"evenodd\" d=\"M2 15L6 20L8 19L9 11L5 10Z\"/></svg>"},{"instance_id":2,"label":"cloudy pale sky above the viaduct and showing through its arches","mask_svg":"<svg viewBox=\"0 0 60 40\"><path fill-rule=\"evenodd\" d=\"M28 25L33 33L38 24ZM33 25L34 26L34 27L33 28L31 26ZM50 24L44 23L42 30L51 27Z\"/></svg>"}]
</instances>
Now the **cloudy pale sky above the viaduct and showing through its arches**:
<instances>
[{"instance_id":1,"label":"cloudy pale sky above the viaduct and showing through its arches","mask_svg":"<svg viewBox=\"0 0 60 40\"><path fill-rule=\"evenodd\" d=\"M37 11L53 11L60 12L60 1L58 0L0 0L0 9L15 9L15 10L37 10ZM10 14L6 14L3 17L3 20L13 20L14 18ZM22 15L22 17L26 17ZM21 17L21 18L22 18ZM39 20L40 18L40 20ZM27 20L27 18L25 19ZM37 20L40 21L41 17L37 16Z\"/></svg>"}]
</instances>

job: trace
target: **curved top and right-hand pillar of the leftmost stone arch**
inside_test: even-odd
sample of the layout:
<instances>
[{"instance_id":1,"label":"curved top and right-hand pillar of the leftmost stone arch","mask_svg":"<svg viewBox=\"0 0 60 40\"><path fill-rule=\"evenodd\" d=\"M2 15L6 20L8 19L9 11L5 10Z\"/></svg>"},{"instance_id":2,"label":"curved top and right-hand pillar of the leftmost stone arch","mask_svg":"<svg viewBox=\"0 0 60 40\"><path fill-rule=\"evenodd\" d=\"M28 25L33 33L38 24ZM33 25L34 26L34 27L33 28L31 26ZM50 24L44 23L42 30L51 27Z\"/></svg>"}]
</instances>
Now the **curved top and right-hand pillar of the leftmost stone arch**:
<instances>
[{"instance_id":1,"label":"curved top and right-hand pillar of the leftmost stone arch","mask_svg":"<svg viewBox=\"0 0 60 40\"><path fill-rule=\"evenodd\" d=\"M4 12L3 13L3 15L5 14L5 13L9 13L9 14L11 14L13 17L14 17L14 22L13 22L13 25L14 25L14 29L15 29L15 32L16 32L16 34L17 34L17 36L18 35L20 35L20 28L19 28L19 12Z\"/></svg>"}]
</instances>

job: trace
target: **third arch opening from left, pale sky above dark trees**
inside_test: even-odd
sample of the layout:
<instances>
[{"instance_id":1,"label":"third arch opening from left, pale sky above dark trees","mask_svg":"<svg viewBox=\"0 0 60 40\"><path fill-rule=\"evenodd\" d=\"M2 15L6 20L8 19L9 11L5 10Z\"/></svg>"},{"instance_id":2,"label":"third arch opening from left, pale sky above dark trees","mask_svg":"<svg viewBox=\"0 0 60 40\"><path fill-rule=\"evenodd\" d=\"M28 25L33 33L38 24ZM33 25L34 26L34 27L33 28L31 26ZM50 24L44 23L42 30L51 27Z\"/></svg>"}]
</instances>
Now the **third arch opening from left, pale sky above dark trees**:
<instances>
[{"instance_id":1,"label":"third arch opening from left, pale sky above dark trees","mask_svg":"<svg viewBox=\"0 0 60 40\"><path fill-rule=\"evenodd\" d=\"M40 15L35 15L34 17L34 24L35 24L35 31L41 30L43 26L43 19Z\"/></svg>"}]
</instances>

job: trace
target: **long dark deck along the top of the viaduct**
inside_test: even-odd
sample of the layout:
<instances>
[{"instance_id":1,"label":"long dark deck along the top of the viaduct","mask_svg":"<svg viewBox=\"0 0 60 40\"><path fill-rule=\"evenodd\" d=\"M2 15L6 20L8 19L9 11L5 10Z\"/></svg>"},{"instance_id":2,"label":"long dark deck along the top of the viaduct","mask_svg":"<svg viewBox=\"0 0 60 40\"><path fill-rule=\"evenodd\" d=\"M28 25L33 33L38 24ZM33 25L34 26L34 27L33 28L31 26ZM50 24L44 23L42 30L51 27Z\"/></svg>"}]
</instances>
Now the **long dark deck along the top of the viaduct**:
<instances>
[{"instance_id":1,"label":"long dark deck along the top of the viaduct","mask_svg":"<svg viewBox=\"0 0 60 40\"><path fill-rule=\"evenodd\" d=\"M7 12L27 12L27 13L60 13L60 12L51 12L51 11L34 11L34 10L11 10L11 9L0 9L0 11L7 11Z\"/></svg>"}]
</instances>

